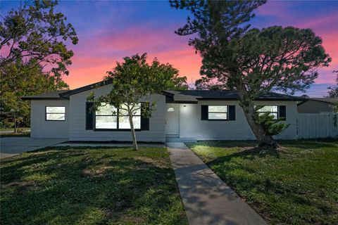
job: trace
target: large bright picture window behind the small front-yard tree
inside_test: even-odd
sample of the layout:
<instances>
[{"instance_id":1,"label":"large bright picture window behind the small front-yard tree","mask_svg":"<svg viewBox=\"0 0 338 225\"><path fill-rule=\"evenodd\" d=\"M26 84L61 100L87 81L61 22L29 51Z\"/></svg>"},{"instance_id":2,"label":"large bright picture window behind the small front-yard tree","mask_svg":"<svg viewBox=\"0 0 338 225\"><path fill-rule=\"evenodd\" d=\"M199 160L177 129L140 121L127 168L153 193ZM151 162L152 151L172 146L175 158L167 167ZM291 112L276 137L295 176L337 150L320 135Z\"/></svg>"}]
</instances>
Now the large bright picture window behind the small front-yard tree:
<instances>
[{"instance_id":1,"label":"large bright picture window behind the small front-yard tree","mask_svg":"<svg viewBox=\"0 0 338 225\"><path fill-rule=\"evenodd\" d=\"M134 129L141 129L141 109L140 103L137 105L137 110L132 122ZM129 117L127 114L126 105L121 105L120 108L115 108L112 105L101 103L98 110L95 112L95 129L130 129Z\"/></svg>"}]
</instances>

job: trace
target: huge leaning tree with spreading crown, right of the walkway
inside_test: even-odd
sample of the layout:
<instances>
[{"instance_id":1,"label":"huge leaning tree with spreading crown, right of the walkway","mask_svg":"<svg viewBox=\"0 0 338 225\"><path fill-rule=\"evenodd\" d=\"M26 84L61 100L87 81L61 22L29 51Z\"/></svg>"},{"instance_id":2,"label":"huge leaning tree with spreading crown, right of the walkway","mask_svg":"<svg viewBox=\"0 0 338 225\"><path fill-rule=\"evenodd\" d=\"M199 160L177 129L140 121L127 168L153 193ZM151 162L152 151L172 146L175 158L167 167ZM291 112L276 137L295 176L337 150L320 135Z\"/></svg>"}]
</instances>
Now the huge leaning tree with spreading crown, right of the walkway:
<instances>
[{"instance_id":1,"label":"huge leaning tree with spreading crown, right of the walkway","mask_svg":"<svg viewBox=\"0 0 338 225\"><path fill-rule=\"evenodd\" d=\"M327 66L331 58L322 39L310 29L249 30L251 12L264 2L188 0L170 4L194 16L177 34L195 34L189 44L202 57L204 81L199 82L217 82L223 89L236 89L258 145L276 148L275 132L261 122L253 101L268 91L303 91L318 77L316 68Z\"/></svg>"}]
</instances>

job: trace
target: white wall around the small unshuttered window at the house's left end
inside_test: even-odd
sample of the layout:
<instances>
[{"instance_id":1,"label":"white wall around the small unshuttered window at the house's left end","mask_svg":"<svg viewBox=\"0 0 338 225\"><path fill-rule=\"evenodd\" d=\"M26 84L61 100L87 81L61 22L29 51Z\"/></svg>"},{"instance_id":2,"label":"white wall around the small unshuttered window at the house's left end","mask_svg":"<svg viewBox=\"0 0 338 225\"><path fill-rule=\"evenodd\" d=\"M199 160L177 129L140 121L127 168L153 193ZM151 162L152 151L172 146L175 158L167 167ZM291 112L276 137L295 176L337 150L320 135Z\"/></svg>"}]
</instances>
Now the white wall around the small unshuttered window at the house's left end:
<instances>
[{"instance_id":1,"label":"white wall around the small unshuttered window at the house's left end","mask_svg":"<svg viewBox=\"0 0 338 225\"><path fill-rule=\"evenodd\" d=\"M32 138L68 138L69 101L32 100L30 136ZM65 106L65 120L46 121L46 106Z\"/></svg>"}]
</instances>

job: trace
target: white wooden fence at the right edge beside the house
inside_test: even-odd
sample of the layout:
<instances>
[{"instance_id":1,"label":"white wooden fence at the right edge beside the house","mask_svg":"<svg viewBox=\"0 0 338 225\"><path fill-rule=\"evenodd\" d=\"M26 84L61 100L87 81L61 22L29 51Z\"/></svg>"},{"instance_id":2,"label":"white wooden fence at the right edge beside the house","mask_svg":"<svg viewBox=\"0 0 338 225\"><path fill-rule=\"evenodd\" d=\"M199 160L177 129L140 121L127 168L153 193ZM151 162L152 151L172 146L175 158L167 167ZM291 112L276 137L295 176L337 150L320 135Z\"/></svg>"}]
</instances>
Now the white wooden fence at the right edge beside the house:
<instances>
[{"instance_id":1,"label":"white wooden fence at the right edge beside the house","mask_svg":"<svg viewBox=\"0 0 338 225\"><path fill-rule=\"evenodd\" d=\"M338 113L298 113L298 139L338 137Z\"/></svg>"}]
</instances>

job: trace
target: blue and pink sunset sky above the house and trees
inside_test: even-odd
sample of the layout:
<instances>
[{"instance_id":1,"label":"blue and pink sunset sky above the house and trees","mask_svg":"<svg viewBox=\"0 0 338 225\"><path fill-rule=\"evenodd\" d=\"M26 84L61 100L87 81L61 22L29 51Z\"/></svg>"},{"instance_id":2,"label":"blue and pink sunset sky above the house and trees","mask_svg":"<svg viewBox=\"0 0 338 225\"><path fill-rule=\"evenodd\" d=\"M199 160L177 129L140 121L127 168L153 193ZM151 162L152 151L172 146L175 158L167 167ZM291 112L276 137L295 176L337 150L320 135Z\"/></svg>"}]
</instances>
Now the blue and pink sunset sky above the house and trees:
<instances>
[{"instance_id":1,"label":"blue and pink sunset sky above the house and trees","mask_svg":"<svg viewBox=\"0 0 338 225\"><path fill-rule=\"evenodd\" d=\"M1 14L18 4L1 1ZM116 60L144 52L172 64L191 84L200 77L201 58L188 46L189 37L174 33L189 14L170 8L168 1L61 1L56 9L67 16L79 38L76 46L69 46L75 56L70 75L64 77L71 89L100 81ZM251 27L292 25L311 28L323 38L332 63L319 70L306 94L327 94L327 86L334 84L332 70L338 70L338 1L268 1L255 13Z\"/></svg>"}]
</instances>

